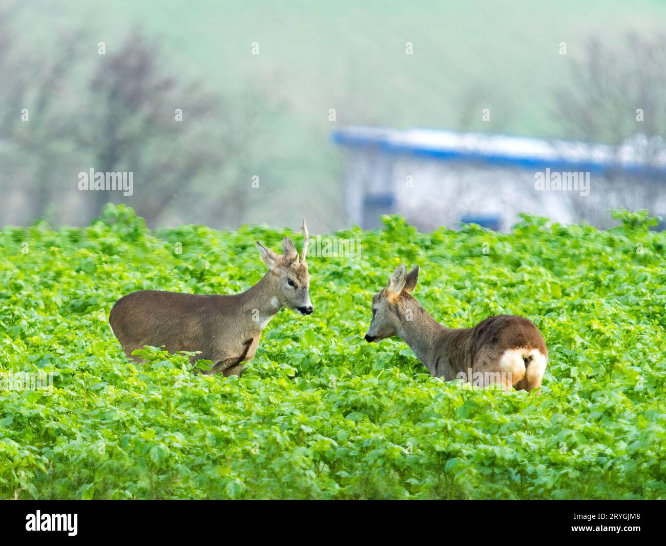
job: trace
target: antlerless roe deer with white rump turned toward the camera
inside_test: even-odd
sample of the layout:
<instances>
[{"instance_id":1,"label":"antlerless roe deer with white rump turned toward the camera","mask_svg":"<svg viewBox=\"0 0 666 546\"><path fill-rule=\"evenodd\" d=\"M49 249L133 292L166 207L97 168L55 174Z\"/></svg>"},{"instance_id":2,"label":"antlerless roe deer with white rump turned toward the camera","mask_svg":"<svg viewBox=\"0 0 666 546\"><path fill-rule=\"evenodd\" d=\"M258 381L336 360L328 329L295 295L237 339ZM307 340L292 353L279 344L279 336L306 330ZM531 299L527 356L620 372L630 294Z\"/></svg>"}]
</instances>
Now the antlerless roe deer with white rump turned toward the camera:
<instances>
[{"instance_id":1,"label":"antlerless roe deer with white rump turned toward the camera","mask_svg":"<svg viewBox=\"0 0 666 546\"><path fill-rule=\"evenodd\" d=\"M487 386L501 383L510 391L538 389L548 351L543 336L523 317L488 317L472 328L446 328L428 314L412 291L418 265L407 273L398 265L388 286L372 297L372 321L366 341L398 335L435 377L462 377Z\"/></svg>"}]
</instances>

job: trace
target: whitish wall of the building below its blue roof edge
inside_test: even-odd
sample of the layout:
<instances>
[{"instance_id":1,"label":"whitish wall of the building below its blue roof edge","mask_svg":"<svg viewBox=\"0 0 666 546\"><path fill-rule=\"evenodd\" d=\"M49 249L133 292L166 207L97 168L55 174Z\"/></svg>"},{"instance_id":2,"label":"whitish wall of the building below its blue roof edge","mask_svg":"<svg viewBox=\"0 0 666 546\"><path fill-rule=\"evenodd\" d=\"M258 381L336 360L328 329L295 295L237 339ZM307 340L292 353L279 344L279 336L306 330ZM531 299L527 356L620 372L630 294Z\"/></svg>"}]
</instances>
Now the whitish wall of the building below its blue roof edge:
<instances>
[{"instance_id":1,"label":"whitish wall of the building below its blue roof edge","mask_svg":"<svg viewBox=\"0 0 666 546\"><path fill-rule=\"evenodd\" d=\"M366 229L379 225L381 213L399 213L422 231L442 225L456 229L463 215L497 216L500 229L506 231L521 212L560 223L588 221L602 228L612 225L607 210L615 207L666 213L666 180L655 176L588 171L589 195L581 195L537 191L537 171L545 173L542 168L354 149L348 162L348 211L351 221ZM392 195L390 207L382 207L386 201L378 199L381 195Z\"/></svg>"}]
</instances>

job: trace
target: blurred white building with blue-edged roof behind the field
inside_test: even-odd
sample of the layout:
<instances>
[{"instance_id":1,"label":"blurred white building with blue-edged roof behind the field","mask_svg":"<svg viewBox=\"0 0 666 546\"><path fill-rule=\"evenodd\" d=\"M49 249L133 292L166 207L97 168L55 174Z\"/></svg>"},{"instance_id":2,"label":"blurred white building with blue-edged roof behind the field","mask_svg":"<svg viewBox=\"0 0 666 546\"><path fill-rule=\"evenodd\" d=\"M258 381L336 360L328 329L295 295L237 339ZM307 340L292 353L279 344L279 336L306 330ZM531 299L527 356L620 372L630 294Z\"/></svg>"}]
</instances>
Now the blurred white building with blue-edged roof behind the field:
<instances>
[{"instance_id":1,"label":"blurred white building with blue-edged roof behind the field","mask_svg":"<svg viewBox=\"0 0 666 546\"><path fill-rule=\"evenodd\" d=\"M666 213L666 147L619 146L429 129L344 127L350 221L401 214L423 231L461 222L507 230L518 213L612 225L615 207Z\"/></svg>"}]
</instances>

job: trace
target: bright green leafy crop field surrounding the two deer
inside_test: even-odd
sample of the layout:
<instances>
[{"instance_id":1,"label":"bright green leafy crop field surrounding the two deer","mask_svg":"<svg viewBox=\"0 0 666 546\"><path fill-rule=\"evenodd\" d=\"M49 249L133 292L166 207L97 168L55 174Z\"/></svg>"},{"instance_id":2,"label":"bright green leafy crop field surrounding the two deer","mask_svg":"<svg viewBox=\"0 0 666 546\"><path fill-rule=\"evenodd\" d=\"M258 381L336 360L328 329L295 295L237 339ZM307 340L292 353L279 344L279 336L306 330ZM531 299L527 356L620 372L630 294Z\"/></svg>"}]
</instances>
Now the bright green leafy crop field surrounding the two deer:
<instances>
[{"instance_id":1,"label":"bright green leafy crop field surrounding the two deer","mask_svg":"<svg viewBox=\"0 0 666 546\"><path fill-rule=\"evenodd\" d=\"M666 497L666 234L616 217L429 234L390 217L331 235L360 239L360 257L308 257L314 314L280 311L240 378L158 349L128 363L109 311L139 289L247 289L265 270L254 241L300 247L296 230L151 232L111 205L90 227L5 227L0 497ZM366 343L400 261L421 266L414 295L445 325L531 319L549 347L541 395L445 383L402 341ZM20 388L22 373L53 385Z\"/></svg>"}]
</instances>

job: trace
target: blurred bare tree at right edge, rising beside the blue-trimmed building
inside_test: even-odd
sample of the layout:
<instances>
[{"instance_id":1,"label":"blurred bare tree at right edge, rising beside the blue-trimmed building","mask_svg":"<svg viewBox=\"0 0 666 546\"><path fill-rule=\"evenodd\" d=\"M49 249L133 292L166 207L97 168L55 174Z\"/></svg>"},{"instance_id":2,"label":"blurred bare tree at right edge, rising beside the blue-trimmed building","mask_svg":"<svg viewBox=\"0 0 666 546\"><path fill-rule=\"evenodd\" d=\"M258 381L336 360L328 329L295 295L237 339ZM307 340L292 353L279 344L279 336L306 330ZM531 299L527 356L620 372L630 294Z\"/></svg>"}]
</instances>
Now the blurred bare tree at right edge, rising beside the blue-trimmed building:
<instances>
[{"instance_id":1,"label":"blurred bare tree at right edge, rising beside the blue-trimmed building","mask_svg":"<svg viewBox=\"0 0 666 546\"><path fill-rule=\"evenodd\" d=\"M575 57L574 57L575 59ZM583 55L571 65L571 78L555 90L556 119L570 140L615 145L616 159L635 155L655 163L664 153L666 137L666 34L643 37L629 34L615 47L591 39ZM626 157L626 156L625 156ZM591 195L571 201L577 221L599 227L612 225L609 213L601 209L641 208L650 202L666 181L663 171L633 173L641 183L629 183L623 169L607 171ZM666 211L652 211L663 215Z\"/></svg>"}]
</instances>

